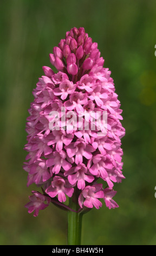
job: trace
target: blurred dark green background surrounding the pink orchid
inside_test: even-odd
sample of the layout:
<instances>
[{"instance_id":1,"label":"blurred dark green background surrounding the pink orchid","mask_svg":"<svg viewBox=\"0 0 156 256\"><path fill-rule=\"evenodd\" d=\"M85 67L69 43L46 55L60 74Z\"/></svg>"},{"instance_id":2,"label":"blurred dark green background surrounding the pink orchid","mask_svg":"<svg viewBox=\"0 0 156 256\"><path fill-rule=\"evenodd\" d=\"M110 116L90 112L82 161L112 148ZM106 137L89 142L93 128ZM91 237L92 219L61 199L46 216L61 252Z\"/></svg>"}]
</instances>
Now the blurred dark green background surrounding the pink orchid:
<instances>
[{"instance_id":1,"label":"blurred dark green background surrounding the pink orchid","mask_svg":"<svg viewBox=\"0 0 156 256\"><path fill-rule=\"evenodd\" d=\"M28 214L22 169L32 89L66 31L85 27L112 71L126 136L118 209L83 217L82 245L156 245L156 2L1 0L1 245L66 245L67 214L54 205Z\"/></svg>"}]
</instances>

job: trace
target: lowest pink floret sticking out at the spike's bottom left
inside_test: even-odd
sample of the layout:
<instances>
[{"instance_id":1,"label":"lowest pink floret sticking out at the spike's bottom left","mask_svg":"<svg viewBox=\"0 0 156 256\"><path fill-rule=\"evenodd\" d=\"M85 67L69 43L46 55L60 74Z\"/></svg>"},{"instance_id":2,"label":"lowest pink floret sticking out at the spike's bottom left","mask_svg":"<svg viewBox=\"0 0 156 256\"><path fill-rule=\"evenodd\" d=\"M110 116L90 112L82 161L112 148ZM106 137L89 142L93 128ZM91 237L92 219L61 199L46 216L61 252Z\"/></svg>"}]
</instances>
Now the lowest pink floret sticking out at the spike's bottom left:
<instances>
[{"instance_id":1,"label":"lowest pink floret sticking out at the spike's bottom left","mask_svg":"<svg viewBox=\"0 0 156 256\"><path fill-rule=\"evenodd\" d=\"M32 191L32 196L29 197L30 202L25 204L25 207L28 208L29 214L31 214L32 211L34 212L34 217L38 216L39 210L44 210L47 208L47 206L50 203L50 198L43 196L43 194ZM44 203L46 201L46 203Z\"/></svg>"}]
</instances>

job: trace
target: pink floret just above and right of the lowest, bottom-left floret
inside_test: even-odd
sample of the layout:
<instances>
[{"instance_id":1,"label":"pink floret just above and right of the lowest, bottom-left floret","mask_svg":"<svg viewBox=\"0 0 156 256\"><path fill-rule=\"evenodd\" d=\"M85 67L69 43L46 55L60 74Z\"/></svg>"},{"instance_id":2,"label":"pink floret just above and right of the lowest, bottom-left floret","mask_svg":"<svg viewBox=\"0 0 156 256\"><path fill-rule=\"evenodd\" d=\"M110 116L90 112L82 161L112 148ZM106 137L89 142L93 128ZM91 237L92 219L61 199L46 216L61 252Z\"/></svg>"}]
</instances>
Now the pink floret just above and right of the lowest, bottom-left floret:
<instances>
[{"instance_id":1,"label":"pink floret just above and right of the lowest, bottom-left floret","mask_svg":"<svg viewBox=\"0 0 156 256\"><path fill-rule=\"evenodd\" d=\"M68 197L72 197L74 192L74 188L70 187L67 181L64 181L59 176L55 176L53 181L51 181L51 185L46 189L46 193L49 194L50 197L56 197L58 195L58 199L60 202L66 201L66 195Z\"/></svg>"}]
</instances>

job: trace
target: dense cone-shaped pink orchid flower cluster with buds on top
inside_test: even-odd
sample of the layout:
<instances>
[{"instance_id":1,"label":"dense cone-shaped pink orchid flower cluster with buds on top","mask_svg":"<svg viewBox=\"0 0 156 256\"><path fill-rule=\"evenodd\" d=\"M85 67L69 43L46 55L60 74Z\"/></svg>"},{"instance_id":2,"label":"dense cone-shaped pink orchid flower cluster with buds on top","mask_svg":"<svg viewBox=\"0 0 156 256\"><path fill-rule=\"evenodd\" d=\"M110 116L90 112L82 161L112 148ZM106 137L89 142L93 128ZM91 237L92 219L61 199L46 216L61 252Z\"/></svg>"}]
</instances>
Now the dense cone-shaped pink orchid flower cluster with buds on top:
<instances>
[{"instance_id":1,"label":"dense cone-shaped pink orchid flower cluster with buds on top","mask_svg":"<svg viewBox=\"0 0 156 256\"><path fill-rule=\"evenodd\" d=\"M80 210L99 209L102 200L109 209L116 208L113 182L125 178L121 162L125 129L111 71L103 68L98 44L82 27L66 33L53 48L50 62L58 72L43 66L44 76L33 91L24 148L29 152L23 167L28 172L27 185L42 187L43 194L32 191L25 206L37 216L50 202L63 205L76 193ZM56 111L61 116L62 107L66 114L74 111L78 116L81 112L80 125L85 122L85 111L98 111L101 116L107 111L107 135L98 136L98 130L91 129L92 117L88 117L88 130L68 126L51 130L51 119L59 124L59 118L50 113Z\"/></svg>"}]
</instances>

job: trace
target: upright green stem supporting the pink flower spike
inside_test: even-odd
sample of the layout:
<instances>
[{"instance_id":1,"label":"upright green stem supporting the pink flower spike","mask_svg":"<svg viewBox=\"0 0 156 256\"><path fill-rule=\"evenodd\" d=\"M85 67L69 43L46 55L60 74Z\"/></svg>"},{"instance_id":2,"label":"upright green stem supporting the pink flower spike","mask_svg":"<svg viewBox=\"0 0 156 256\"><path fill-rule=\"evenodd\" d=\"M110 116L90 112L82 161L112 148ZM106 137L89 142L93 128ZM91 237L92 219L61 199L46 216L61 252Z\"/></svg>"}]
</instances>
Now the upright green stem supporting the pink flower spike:
<instances>
[{"instance_id":1,"label":"upright green stem supporting the pink flower spike","mask_svg":"<svg viewBox=\"0 0 156 256\"><path fill-rule=\"evenodd\" d=\"M69 198L69 207L75 211L79 209L76 196ZM81 245L82 214L68 211L68 245Z\"/></svg>"}]
</instances>

